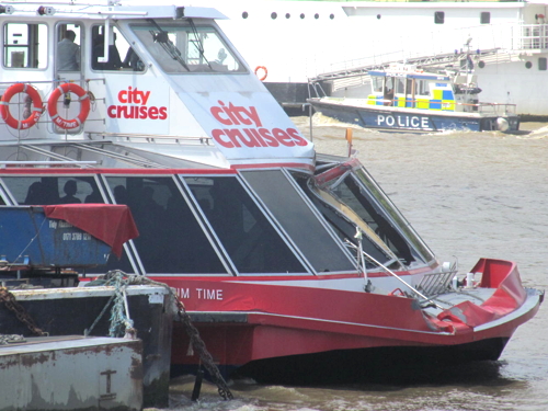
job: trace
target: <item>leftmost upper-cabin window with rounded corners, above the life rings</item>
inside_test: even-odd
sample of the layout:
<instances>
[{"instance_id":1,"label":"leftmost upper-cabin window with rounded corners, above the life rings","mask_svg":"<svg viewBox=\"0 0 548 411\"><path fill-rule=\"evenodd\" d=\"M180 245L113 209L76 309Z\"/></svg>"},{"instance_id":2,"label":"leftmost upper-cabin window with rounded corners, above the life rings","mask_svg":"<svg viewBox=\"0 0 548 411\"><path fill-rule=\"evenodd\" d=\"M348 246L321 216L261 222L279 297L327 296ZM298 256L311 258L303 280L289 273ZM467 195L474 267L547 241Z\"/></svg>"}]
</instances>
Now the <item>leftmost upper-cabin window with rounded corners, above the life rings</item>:
<instances>
[{"instance_id":1,"label":"leftmost upper-cabin window with rounded corners, above the life rings","mask_svg":"<svg viewBox=\"0 0 548 411\"><path fill-rule=\"evenodd\" d=\"M47 67L47 25L8 23L3 26L3 66L7 68Z\"/></svg>"}]
</instances>

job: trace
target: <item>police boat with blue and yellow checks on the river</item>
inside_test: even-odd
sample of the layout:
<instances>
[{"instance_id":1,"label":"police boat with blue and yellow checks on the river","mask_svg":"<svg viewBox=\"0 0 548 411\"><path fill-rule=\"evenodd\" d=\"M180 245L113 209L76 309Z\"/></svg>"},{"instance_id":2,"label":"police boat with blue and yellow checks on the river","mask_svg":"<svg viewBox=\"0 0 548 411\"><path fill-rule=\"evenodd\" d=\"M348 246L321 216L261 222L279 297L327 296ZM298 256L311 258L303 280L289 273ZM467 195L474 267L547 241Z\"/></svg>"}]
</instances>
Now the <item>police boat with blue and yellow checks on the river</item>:
<instances>
[{"instance_id":1,"label":"police boat with blue and yellow checks on the river","mask_svg":"<svg viewBox=\"0 0 548 411\"><path fill-rule=\"evenodd\" d=\"M341 122L378 129L515 132L520 128L515 105L478 100L481 89L477 76L468 69L429 72L414 65L392 64L386 69L367 70L358 85L355 79L347 80L351 77L356 75L326 73L311 79L319 95L326 83L333 90L336 81L342 84L346 79L354 84L341 87L330 96L309 99L313 109Z\"/></svg>"}]
</instances>

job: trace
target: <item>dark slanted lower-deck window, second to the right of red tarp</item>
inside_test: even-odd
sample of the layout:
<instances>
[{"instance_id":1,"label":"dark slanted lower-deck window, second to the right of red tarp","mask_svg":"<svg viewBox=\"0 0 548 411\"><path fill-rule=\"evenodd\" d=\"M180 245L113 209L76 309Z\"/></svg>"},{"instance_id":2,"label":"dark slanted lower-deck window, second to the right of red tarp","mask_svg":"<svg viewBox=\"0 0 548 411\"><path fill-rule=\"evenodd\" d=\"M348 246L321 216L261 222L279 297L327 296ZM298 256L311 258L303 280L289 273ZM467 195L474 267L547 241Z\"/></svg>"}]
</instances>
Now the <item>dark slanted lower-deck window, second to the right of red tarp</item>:
<instances>
[{"instance_id":1,"label":"dark slanted lower-deck window, second to the right of red tarp","mask_svg":"<svg viewBox=\"0 0 548 411\"><path fill-rule=\"evenodd\" d=\"M185 176L184 181L238 272L306 273L236 178Z\"/></svg>"}]
</instances>

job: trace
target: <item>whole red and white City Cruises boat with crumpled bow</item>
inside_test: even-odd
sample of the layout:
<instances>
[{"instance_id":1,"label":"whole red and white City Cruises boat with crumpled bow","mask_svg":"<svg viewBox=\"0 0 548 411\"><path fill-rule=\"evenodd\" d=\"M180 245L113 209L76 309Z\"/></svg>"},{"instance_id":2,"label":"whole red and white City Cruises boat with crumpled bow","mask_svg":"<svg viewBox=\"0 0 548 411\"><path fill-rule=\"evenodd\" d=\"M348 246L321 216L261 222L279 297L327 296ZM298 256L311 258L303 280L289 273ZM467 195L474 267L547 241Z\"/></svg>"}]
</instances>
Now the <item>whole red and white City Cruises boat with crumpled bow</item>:
<instances>
[{"instance_id":1,"label":"whole red and white City Cruises boat with crumpled bow","mask_svg":"<svg viewBox=\"0 0 548 411\"><path fill-rule=\"evenodd\" d=\"M126 204L139 237L82 275L175 288L227 374L370 373L376 347L496 358L540 302L515 264L480 260L459 293L357 159L316 153L215 19L3 2L0 206ZM172 363L201 363L179 323Z\"/></svg>"}]
</instances>

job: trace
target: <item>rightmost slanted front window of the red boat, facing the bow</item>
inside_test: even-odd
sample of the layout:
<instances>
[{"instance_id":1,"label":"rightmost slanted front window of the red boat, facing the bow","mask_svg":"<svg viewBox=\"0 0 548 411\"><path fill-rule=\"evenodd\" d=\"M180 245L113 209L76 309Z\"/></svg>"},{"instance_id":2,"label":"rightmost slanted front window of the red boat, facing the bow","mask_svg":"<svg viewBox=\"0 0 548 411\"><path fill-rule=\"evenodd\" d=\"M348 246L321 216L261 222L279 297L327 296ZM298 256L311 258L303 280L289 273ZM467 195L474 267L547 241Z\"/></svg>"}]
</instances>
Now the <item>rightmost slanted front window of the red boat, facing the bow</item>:
<instances>
[{"instance_id":1,"label":"rightmost slanted front window of the red boat, facing the bow","mask_svg":"<svg viewBox=\"0 0 548 411\"><path fill-rule=\"evenodd\" d=\"M372 227L377 235L399 258L407 262L429 262L434 259L432 251L363 168L354 170L343 183L335 189L338 195L351 202L350 206L361 214L362 218L373 221Z\"/></svg>"}]
</instances>

